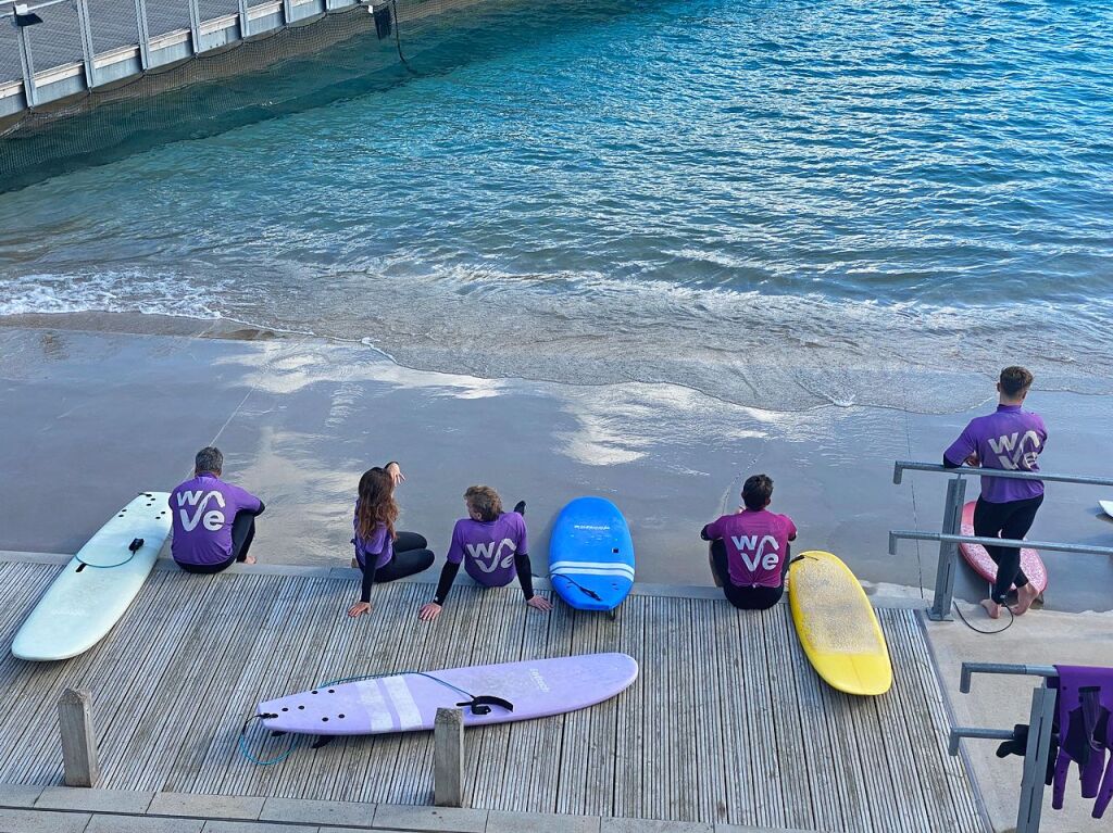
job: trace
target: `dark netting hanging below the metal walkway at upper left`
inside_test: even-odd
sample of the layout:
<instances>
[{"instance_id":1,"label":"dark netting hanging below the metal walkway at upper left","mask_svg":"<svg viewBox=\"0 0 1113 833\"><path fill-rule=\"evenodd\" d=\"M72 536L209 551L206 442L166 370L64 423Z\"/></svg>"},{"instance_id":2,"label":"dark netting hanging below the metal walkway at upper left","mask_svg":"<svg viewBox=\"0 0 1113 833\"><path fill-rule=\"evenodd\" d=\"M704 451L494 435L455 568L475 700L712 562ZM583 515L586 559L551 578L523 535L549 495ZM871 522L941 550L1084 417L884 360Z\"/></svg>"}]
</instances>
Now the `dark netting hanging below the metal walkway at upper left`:
<instances>
[{"instance_id":1,"label":"dark netting hanging below the metal walkway at upper left","mask_svg":"<svg viewBox=\"0 0 1113 833\"><path fill-rule=\"evenodd\" d=\"M90 3L95 32L104 1ZM496 7L483 3L486 14ZM392 0L374 14L349 7L24 111L0 122L0 190L435 71L435 57L423 67L421 59L485 26L476 8L475 0ZM125 28L116 31L118 44L132 42Z\"/></svg>"}]
</instances>

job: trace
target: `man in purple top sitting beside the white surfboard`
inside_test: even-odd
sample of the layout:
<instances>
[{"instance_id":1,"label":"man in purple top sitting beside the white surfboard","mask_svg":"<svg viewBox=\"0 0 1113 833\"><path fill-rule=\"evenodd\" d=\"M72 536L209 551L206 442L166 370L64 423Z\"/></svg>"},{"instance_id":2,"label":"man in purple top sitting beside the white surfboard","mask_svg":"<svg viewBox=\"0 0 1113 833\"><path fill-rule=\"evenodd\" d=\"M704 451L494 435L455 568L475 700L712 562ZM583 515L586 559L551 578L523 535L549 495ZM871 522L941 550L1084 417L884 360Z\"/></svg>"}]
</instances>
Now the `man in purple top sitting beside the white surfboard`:
<instances>
[{"instance_id":1,"label":"man in purple top sitting beside the white surfboard","mask_svg":"<svg viewBox=\"0 0 1113 833\"><path fill-rule=\"evenodd\" d=\"M220 479L224 455L201 448L194 477L170 493L174 561L187 573L219 573L235 562L255 564L247 554L255 537L255 516L263 502L246 489Z\"/></svg>"}]
</instances>

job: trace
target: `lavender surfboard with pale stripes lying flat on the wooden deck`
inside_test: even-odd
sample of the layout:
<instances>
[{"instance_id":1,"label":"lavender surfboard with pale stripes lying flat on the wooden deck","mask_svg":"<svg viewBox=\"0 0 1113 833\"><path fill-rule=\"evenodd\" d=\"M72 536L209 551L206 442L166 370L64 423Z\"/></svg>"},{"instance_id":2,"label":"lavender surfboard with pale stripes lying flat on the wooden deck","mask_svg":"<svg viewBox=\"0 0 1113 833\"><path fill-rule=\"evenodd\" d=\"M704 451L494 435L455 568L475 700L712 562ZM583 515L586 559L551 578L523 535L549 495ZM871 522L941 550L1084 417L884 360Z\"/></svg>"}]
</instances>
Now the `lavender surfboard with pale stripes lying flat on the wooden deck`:
<instances>
[{"instance_id":1,"label":"lavender surfboard with pale stripes lying flat on the wooden deck","mask_svg":"<svg viewBox=\"0 0 1113 833\"><path fill-rule=\"evenodd\" d=\"M429 731L437 708L457 707L471 700L447 683L470 695L501 697L514 706L509 712L489 705L487 714L463 707L465 725L528 721L610 700L638 677L638 663L626 654L584 654L427 674L397 674L290 694L260 703L259 714L266 715L263 725L267 728L298 734Z\"/></svg>"}]
</instances>

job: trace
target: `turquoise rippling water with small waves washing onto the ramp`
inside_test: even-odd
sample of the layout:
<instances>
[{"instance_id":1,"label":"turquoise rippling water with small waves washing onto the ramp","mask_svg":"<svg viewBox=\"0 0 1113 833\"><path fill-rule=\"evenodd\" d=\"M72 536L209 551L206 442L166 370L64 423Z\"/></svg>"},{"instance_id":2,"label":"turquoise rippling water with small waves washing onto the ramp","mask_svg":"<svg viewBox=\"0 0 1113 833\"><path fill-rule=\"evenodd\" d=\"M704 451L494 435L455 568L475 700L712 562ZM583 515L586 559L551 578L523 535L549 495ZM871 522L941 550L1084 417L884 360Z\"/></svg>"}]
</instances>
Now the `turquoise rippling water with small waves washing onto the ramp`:
<instances>
[{"instance_id":1,"label":"turquoise rippling water with small waves washing onto the ramp","mask_svg":"<svg viewBox=\"0 0 1113 833\"><path fill-rule=\"evenodd\" d=\"M0 314L772 408L958 407L935 379L1014 361L1105 391L1110 31L1089 2L511 7L415 76L0 195Z\"/></svg>"}]
</instances>

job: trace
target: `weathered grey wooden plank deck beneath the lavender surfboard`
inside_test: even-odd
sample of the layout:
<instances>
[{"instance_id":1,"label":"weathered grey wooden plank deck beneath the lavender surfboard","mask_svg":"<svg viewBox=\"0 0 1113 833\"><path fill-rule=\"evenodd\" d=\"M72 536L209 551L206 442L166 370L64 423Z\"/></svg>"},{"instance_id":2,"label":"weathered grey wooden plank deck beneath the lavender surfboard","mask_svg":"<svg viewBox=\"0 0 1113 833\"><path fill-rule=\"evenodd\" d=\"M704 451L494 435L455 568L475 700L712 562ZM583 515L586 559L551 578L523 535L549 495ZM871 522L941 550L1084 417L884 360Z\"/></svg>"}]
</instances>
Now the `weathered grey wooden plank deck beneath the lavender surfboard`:
<instances>
[{"instance_id":1,"label":"weathered grey wooden plank deck beneath the lavender surfboard","mask_svg":"<svg viewBox=\"0 0 1113 833\"><path fill-rule=\"evenodd\" d=\"M59 569L0 563L3 639ZM699 592L636 588L611 622L559 603L539 614L516 587L459 587L429 624L416 615L429 584L376 587L372 615L353 621L344 613L356 592L349 571L156 568L88 653L49 664L4 653L0 783L61 783L57 703L77 687L92 694L101 787L427 805L431 733L304 743L257 766L237 750L244 718L259 701L352 675L622 652L641 673L617 697L466 731L469 806L708 831L983 830L967 773L946 754L943 698L913 611L878 611L895 680L867 698L819 680L786 605L740 614ZM290 741L249 737L260 756Z\"/></svg>"}]
</instances>

